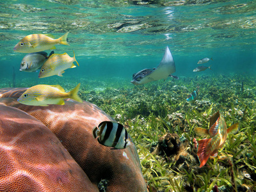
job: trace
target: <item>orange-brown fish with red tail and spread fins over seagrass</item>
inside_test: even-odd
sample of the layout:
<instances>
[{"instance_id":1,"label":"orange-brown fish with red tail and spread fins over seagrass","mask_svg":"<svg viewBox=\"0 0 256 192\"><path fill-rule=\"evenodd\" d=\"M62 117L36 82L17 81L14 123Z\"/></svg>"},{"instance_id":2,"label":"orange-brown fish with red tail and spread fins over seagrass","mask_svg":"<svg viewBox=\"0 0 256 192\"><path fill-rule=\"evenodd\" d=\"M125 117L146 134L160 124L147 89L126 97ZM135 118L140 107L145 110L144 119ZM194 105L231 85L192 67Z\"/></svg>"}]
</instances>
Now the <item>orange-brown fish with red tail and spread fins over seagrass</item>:
<instances>
[{"instance_id":1,"label":"orange-brown fish with red tail and spread fins over seagrass","mask_svg":"<svg viewBox=\"0 0 256 192\"><path fill-rule=\"evenodd\" d=\"M195 128L196 134L210 136L210 138L198 141L197 156L200 161L200 168L205 165L210 156L217 156L219 148L223 147L227 140L227 134L236 130L238 125L236 123L227 129L225 119L218 111L210 118L210 129L204 129L202 127Z\"/></svg>"}]
</instances>

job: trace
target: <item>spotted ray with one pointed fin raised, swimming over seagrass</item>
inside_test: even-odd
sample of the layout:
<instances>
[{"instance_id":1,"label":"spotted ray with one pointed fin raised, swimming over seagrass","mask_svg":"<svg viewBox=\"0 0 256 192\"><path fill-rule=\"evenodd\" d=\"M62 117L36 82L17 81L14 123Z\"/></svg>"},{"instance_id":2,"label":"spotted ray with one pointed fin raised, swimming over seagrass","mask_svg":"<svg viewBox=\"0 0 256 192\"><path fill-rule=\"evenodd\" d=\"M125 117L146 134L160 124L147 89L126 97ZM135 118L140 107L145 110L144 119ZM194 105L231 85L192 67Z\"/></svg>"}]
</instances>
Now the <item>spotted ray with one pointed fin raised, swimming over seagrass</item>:
<instances>
[{"instance_id":1,"label":"spotted ray with one pointed fin raised, swimming over seagrass","mask_svg":"<svg viewBox=\"0 0 256 192\"><path fill-rule=\"evenodd\" d=\"M145 68L132 75L133 84L145 84L159 79L167 79L168 76L175 72L175 63L169 47L165 49L165 53L161 63L157 68ZM176 77L176 76L172 76Z\"/></svg>"}]
</instances>

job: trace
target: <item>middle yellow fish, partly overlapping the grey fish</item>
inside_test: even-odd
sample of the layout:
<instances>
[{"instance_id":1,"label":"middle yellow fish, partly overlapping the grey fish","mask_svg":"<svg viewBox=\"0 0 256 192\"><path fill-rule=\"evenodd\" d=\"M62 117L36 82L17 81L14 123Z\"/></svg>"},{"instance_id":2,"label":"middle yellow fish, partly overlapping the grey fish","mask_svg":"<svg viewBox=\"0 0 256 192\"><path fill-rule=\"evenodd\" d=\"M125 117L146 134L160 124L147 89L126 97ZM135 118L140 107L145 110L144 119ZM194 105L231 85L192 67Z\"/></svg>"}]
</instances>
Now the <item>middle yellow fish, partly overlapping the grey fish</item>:
<instances>
[{"instance_id":1,"label":"middle yellow fish, partly overlapping the grey fish","mask_svg":"<svg viewBox=\"0 0 256 192\"><path fill-rule=\"evenodd\" d=\"M74 57L71 58L67 52L63 54L52 54L51 57L47 61L45 61L42 66L40 73L38 75L39 78L50 77L50 76L61 76L65 72L67 68L74 68L76 65L73 62L76 61L75 52ZM77 63L77 61L76 61ZM79 66L79 64L77 63Z\"/></svg>"}]
</instances>

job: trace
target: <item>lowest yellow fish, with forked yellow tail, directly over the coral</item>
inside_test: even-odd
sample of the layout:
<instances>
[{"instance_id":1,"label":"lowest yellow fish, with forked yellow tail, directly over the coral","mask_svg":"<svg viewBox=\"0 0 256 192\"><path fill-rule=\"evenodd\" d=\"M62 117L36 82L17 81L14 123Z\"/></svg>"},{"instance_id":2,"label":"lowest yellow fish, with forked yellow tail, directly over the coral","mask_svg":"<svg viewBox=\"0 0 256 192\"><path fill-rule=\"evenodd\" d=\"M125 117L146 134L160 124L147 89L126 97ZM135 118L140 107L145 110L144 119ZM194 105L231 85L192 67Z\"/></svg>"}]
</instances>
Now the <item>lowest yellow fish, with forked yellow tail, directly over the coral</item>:
<instances>
[{"instance_id":1,"label":"lowest yellow fish, with forked yellow tail, directly over the coral","mask_svg":"<svg viewBox=\"0 0 256 192\"><path fill-rule=\"evenodd\" d=\"M28 88L17 101L28 106L48 106L49 104L63 105L65 104L64 99L68 98L83 102L77 95L80 84L81 83L77 84L77 86L68 93L65 93L65 90L59 84L38 84Z\"/></svg>"}]
</instances>

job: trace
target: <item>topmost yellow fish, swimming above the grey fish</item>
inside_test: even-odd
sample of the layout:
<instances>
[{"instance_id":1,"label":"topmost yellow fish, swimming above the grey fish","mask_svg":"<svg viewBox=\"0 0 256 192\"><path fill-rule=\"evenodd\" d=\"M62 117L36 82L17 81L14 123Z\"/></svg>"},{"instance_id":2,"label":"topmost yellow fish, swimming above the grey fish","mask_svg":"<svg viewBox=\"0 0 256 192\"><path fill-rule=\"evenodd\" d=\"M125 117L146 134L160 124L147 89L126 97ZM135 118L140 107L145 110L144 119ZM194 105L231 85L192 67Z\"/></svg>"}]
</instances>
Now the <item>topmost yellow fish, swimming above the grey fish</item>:
<instances>
[{"instance_id":1,"label":"topmost yellow fish, swimming above the grey fish","mask_svg":"<svg viewBox=\"0 0 256 192\"><path fill-rule=\"evenodd\" d=\"M54 39L53 35L44 35L44 34L32 34L25 36L20 40L20 42L15 45L13 51L17 52L40 52L47 49L56 49L54 45L63 44L69 45L67 42L68 33L61 36L60 38Z\"/></svg>"}]
</instances>

